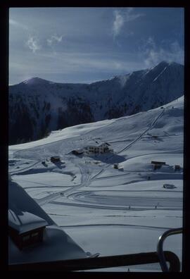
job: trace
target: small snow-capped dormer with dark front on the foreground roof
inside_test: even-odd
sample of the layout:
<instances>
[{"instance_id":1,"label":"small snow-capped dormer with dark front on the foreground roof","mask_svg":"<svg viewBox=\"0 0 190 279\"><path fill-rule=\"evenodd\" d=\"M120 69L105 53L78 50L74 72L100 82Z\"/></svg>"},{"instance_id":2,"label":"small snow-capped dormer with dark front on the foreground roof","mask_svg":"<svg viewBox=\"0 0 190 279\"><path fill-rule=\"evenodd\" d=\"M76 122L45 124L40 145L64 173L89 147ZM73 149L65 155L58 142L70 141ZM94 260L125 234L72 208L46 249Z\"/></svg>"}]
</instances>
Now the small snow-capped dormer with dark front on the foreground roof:
<instances>
[{"instance_id":1,"label":"small snow-capped dormer with dark front on the foreground roof","mask_svg":"<svg viewBox=\"0 0 190 279\"><path fill-rule=\"evenodd\" d=\"M42 242L46 225L44 219L30 212L8 209L8 233L20 250Z\"/></svg>"}]
</instances>

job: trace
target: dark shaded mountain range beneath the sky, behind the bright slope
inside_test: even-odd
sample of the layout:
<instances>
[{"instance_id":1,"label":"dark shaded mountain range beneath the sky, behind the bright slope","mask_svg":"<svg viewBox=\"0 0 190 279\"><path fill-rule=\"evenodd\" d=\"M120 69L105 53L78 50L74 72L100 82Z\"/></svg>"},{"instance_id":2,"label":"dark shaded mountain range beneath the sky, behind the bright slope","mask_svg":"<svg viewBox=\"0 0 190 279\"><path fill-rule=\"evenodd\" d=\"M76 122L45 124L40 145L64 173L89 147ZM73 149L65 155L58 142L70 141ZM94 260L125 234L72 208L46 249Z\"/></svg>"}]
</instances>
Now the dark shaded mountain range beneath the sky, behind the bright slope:
<instances>
[{"instance_id":1,"label":"dark shaded mountain range beneath the sky, behind the bright slope","mask_svg":"<svg viewBox=\"0 0 190 279\"><path fill-rule=\"evenodd\" d=\"M184 66L165 61L89 85L34 77L9 87L9 144L38 140L72 125L147 111L182 94Z\"/></svg>"}]
</instances>

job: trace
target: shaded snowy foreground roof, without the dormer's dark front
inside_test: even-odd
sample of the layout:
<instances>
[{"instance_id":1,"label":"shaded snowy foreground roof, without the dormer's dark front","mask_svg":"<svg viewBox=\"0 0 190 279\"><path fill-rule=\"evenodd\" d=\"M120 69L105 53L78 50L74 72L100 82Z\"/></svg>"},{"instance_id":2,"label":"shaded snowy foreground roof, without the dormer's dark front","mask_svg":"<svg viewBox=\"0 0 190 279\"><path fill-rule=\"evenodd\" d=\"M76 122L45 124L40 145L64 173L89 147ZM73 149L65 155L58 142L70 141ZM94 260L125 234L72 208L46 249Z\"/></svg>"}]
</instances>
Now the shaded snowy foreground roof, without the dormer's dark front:
<instances>
[{"instance_id":1,"label":"shaded snowy foreground roof, without the dormer's dark front","mask_svg":"<svg viewBox=\"0 0 190 279\"><path fill-rule=\"evenodd\" d=\"M8 208L8 223L19 233L47 225L43 244L27 253L20 252L9 237L9 264L85 258L84 250L14 181L8 183Z\"/></svg>"}]
</instances>

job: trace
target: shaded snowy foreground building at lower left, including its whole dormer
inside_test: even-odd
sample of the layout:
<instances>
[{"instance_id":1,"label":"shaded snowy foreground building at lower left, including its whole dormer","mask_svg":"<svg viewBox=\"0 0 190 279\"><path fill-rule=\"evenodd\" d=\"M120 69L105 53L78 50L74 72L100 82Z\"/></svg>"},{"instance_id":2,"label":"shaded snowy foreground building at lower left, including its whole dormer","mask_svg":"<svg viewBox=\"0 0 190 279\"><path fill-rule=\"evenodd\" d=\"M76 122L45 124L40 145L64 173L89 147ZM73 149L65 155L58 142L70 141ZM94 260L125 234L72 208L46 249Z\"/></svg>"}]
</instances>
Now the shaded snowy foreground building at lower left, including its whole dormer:
<instances>
[{"instance_id":1,"label":"shaded snowy foreground building at lower left, including its whole dormer","mask_svg":"<svg viewBox=\"0 0 190 279\"><path fill-rule=\"evenodd\" d=\"M87 257L82 247L56 225L23 187L11 180L8 181L8 209L7 260L12 268L18 263L30 265L39 261L56 262ZM1 230L6 230L2 223Z\"/></svg>"}]
</instances>

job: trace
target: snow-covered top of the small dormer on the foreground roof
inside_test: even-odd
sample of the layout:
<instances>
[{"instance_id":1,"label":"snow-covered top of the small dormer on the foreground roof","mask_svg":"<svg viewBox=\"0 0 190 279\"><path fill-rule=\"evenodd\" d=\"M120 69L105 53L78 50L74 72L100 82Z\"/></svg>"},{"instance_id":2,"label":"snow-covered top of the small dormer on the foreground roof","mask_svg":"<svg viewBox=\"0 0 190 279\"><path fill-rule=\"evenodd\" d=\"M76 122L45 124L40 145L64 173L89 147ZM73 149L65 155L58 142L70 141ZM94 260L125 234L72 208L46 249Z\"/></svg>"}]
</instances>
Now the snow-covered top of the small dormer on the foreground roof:
<instances>
[{"instance_id":1,"label":"snow-covered top of the small dormer on the foreground roof","mask_svg":"<svg viewBox=\"0 0 190 279\"><path fill-rule=\"evenodd\" d=\"M16 214L13 210L8 209L8 225L17 230L18 234L21 234L27 233L30 230L42 228L48 225L48 223L30 212L21 211L19 214Z\"/></svg>"}]
</instances>

